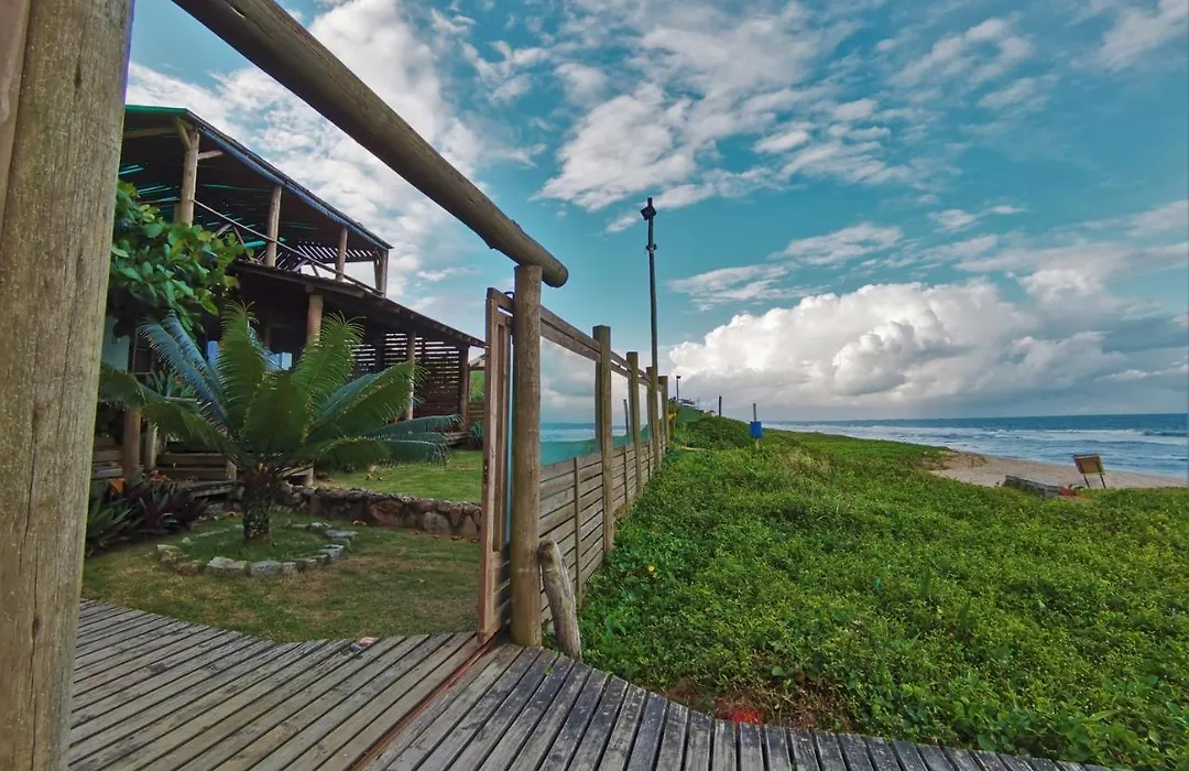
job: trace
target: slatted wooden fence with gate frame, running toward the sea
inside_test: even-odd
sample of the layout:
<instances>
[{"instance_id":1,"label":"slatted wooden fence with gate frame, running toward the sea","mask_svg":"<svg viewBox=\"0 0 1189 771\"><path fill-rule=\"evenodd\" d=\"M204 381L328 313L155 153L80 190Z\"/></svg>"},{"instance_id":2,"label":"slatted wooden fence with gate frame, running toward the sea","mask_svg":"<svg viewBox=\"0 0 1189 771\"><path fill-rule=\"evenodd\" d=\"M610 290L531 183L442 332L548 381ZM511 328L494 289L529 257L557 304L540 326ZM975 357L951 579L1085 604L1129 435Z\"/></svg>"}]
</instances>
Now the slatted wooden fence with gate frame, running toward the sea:
<instances>
[{"instance_id":1,"label":"slatted wooden fence with gate frame, running toward the sea","mask_svg":"<svg viewBox=\"0 0 1189 771\"><path fill-rule=\"evenodd\" d=\"M479 582L479 637L483 639L490 638L511 620L509 395L514 308L511 299L493 289L487 290L485 457L480 526L483 554ZM614 545L616 522L630 510L659 466L668 440L666 421L658 416L661 400L667 403L667 394L649 389L649 395L644 399L650 415L650 431L658 432L654 452L648 438L641 432L642 410L638 397L633 396L638 387L646 384L646 372L638 369L635 352L621 357L610 351L610 330L600 330L604 331L603 341L580 332L549 311L541 309L543 339L598 365L594 399L596 439L600 440L600 451L541 468L539 483L536 541L552 540L558 544L579 603L591 575L603 564L604 554ZM611 446L612 375L627 378L631 402L629 441L618 447ZM603 449L610 451L604 453ZM543 585L539 585L539 609L535 612L541 622L548 626L551 619Z\"/></svg>"}]
</instances>

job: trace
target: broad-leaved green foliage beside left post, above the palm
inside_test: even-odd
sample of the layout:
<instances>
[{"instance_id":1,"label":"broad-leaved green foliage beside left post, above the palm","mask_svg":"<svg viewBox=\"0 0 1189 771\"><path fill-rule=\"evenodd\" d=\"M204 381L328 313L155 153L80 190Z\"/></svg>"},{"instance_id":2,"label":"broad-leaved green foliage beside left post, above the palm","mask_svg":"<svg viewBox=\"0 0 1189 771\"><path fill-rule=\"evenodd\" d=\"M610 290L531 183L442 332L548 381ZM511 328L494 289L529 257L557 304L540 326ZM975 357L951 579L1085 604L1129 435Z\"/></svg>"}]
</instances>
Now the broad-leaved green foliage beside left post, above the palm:
<instances>
[{"instance_id":1,"label":"broad-leaved green foliage beside left post, above the palm","mask_svg":"<svg viewBox=\"0 0 1189 771\"><path fill-rule=\"evenodd\" d=\"M165 220L157 207L139 201L134 187L120 182L107 281L115 333L130 334L141 321L170 314L185 328L203 314L218 315L219 301L235 287L227 268L246 252L233 233Z\"/></svg>"}]
</instances>

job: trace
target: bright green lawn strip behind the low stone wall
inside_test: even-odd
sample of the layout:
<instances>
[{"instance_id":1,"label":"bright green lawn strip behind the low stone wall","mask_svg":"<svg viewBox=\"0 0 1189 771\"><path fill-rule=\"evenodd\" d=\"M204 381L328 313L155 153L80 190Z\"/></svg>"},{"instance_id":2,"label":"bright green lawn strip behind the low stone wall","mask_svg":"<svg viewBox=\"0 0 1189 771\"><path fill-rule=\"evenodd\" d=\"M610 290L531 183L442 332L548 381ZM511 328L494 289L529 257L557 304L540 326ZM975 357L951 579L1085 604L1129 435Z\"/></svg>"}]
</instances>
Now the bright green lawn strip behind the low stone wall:
<instances>
[{"instance_id":1,"label":"bright green lawn strip behind the low stone wall","mask_svg":"<svg viewBox=\"0 0 1189 771\"><path fill-rule=\"evenodd\" d=\"M477 503L483 495L483 452L454 450L446 465L416 463L379 466L372 472L333 472L328 482L376 493Z\"/></svg>"}]
</instances>

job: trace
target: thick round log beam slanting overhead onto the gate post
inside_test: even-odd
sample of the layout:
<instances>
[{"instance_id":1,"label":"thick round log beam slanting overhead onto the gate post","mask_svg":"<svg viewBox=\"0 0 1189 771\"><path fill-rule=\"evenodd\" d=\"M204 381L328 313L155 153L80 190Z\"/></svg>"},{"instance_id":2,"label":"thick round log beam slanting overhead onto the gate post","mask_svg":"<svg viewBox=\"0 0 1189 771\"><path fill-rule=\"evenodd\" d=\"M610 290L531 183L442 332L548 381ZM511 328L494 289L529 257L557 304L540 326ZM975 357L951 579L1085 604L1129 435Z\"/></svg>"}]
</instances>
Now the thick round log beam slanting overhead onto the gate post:
<instances>
[{"instance_id":1,"label":"thick round log beam slanting overhead onto the gate post","mask_svg":"<svg viewBox=\"0 0 1189 771\"><path fill-rule=\"evenodd\" d=\"M520 265L560 287L566 267L272 0L174 0L390 169Z\"/></svg>"}]
</instances>

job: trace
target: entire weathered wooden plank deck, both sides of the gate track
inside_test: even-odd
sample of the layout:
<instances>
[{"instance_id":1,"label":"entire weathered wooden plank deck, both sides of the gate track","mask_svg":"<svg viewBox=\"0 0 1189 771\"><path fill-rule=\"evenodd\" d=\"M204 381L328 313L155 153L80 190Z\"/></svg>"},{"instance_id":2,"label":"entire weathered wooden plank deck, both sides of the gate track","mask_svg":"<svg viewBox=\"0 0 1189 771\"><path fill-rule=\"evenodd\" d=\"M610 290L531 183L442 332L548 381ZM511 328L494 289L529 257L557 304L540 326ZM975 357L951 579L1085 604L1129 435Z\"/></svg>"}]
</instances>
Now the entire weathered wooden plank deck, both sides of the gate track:
<instances>
[{"instance_id":1,"label":"entire weathered wooden plank deck, both sides of the gate track","mask_svg":"<svg viewBox=\"0 0 1189 771\"><path fill-rule=\"evenodd\" d=\"M1105 771L713 720L472 634L269 642L84 602L71 769Z\"/></svg>"}]
</instances>

